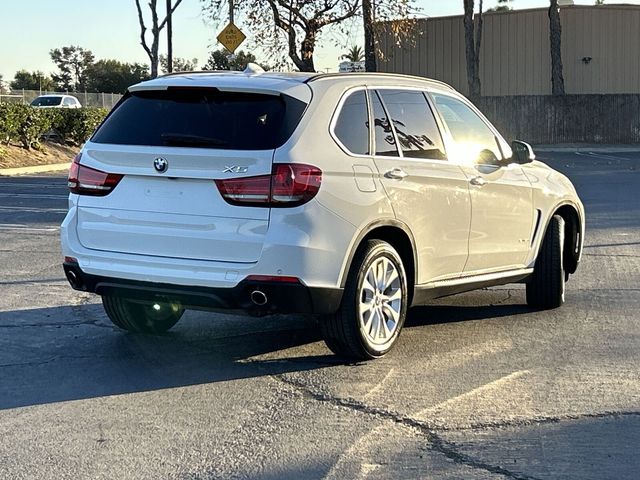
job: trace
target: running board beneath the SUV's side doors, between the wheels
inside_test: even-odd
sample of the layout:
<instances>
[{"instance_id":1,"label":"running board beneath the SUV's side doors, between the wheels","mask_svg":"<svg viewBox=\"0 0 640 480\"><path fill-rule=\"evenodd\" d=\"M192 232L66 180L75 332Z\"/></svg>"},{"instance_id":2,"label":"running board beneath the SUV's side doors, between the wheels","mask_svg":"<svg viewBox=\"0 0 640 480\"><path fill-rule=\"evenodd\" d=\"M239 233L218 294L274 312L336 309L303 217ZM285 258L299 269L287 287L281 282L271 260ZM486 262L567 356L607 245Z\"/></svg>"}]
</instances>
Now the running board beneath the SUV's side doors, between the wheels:
<instances>
[{"instance_id":1,"label":"running board beneath the SUV's side doors, between the wheels","mask_svg":"<svg viewBox=\"0 0 640 480\"><path fill-rule=\"evenodd\" d=\"M470 292L479 288L495 287L507 283L518 283L533 273L533 268L510 270L508 272L486 273L472 277L454 278L439 282L416 285L411 305L425 305L434 298L447 297L458 293Z\"/></svg>"}]
</instances>

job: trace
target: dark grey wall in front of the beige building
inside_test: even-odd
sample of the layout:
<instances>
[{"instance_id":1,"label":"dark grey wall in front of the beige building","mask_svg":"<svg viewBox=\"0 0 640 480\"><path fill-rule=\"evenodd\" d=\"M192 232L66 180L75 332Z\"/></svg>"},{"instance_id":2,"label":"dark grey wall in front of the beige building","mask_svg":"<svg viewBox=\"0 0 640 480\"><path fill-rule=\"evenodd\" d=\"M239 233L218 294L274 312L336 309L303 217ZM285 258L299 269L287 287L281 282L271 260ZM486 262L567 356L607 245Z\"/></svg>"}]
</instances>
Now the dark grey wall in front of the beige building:
<instances>
[{"instance_id":1,"label":"dark grey wall in front of the beige building","mask_svg":"<svg viewBox=\"0 0 640 480\"><path fill-rule=\"evenodd\" d=\"M508 140L640 143L640 95L483 97L476 105Z\"/></svg>"}]
</instances>

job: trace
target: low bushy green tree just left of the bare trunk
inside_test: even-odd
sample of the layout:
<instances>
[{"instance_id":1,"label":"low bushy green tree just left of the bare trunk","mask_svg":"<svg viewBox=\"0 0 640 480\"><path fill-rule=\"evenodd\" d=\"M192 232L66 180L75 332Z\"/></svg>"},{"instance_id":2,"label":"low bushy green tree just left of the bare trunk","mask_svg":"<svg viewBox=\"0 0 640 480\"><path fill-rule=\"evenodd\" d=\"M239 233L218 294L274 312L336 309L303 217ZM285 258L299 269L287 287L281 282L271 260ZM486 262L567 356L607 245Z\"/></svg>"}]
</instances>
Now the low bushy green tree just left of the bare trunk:
<instances>
[{"instance_id":1,"label":"low bushy green tree just left of the bare trunk","mask_svg":"<svg viewBox=\"0 0 640 480\"><path fill-rule=\"evenodd\" d=\"M127 88L149 79L149 68L140 63L98 60L85 71L89 92L125 93Z\"/></svg>"}]
</instances>

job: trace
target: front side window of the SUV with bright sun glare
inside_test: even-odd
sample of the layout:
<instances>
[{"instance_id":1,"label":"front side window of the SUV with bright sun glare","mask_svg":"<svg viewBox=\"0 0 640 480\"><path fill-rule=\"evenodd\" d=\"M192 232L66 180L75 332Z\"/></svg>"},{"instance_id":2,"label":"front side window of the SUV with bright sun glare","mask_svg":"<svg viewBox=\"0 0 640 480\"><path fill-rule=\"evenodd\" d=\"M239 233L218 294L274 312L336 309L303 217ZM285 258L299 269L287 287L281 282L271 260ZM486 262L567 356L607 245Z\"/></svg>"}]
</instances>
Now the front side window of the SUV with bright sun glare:
<instances>
[{"instance_id":1,"label":"front side window of the SUV with bright sun glare","mask_svg":"<svg viewBox=\"0 0 640 480\"><path fill-rule=\"evenodd\" d=\"M457 155L479 163L502 158L494 133L468 105L447 95L433 94L433 99L458 147Z\"/></svg>"}]
</instances>

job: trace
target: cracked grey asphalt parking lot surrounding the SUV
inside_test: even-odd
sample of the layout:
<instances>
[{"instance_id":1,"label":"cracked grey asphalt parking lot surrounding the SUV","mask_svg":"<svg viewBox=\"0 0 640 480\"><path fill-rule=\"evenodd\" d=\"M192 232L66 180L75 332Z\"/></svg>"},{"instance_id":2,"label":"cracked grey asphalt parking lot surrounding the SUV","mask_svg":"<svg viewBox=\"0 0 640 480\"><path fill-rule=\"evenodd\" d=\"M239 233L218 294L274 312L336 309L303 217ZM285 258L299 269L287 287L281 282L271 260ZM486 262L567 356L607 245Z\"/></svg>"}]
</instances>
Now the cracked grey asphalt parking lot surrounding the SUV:
<instances>
[{"instance_id":1,"label":"cracked grey asphalt parking lot surrounding the SUV","mask_svg":"<svg viewBox=\"0 0 640 480\"><path fill-rule=\"evenodd\" d=\"M640 153L539 157L587 210L567 303L441 299L360 364L299 317L118 331L64 280L66 179L0 177L0 478L638 478Z\"/></svg>"}]
</instances>

